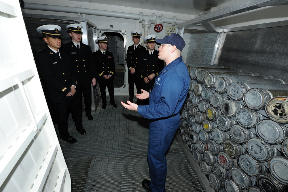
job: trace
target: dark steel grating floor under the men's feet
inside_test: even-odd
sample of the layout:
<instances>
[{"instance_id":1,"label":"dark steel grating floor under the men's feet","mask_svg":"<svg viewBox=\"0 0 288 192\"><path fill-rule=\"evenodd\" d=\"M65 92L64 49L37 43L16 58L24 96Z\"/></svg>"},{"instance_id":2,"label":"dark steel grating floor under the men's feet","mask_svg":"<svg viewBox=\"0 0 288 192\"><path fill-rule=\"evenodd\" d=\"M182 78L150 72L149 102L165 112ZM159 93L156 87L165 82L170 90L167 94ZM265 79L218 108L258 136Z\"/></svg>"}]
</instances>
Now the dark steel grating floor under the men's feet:
<instances>
[{"instance_id":1,"label":"dark steel grating floor under the men's feet","mask_svg":"<svg viewBox=\"0 0 288 192\"><path fill-rule=\"evenodd\" d=\"M92 111L92 121L83 114L85 136L76 131L70 115L69 132L78 142L59 142L71 175L72 191L145 191L141 182L150 179L146 161L149 120L122 107L120 101L126 100L126 96L115 96L118 108L107 105L105 110L100 103ZM166 191L205 191L176 137L166 159Z\"/></svg>"}]
</instances>

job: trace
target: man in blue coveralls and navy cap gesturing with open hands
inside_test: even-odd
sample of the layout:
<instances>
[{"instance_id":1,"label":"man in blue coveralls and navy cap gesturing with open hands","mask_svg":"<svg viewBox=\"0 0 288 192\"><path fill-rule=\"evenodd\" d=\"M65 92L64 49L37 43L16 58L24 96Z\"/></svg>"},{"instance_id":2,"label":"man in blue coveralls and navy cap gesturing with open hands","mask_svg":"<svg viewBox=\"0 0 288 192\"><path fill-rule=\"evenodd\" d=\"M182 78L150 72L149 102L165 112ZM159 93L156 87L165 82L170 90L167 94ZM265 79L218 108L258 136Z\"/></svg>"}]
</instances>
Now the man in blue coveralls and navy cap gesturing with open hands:
<instances>
[{"instance_id":1,"label":"man in blue coveralls and navy cap gesturing with open hands","mask_svg":"<svg viewBox=\"0 0 288 192\"><path fill-rule=\"evenodd\" d=\"M163 39L156 39L160 45L159 56L166 66L155 80L152 92L141 89L136 94L139 99L150 98L149 105L137 105L127 101L121 104L151 119L149 124L148 164L151 181L144 179L142 186L146 191L164 192L167 174L165 154L180 125L179 112L186 99L190 77L181 51L185 46L183 38L170 33Z\"/></svg>"}]
</instances>

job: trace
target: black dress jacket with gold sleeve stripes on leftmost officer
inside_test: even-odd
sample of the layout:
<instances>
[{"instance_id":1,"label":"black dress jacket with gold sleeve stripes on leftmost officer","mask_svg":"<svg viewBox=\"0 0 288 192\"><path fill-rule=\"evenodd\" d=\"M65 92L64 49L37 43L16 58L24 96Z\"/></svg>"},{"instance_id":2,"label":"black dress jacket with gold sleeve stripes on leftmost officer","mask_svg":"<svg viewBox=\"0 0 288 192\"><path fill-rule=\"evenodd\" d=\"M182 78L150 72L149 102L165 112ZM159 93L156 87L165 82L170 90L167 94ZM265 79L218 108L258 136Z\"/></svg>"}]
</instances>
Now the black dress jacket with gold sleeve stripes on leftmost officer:
<instances>
[{"instance_id":1,"label":"black dress jacket with gold sleeve stripes on leftmost officer","mask_svg":"<svg viewBox=\"0 0 288 192\"><path fill-rule=\"evenodd\" d=\"M76 74L70 59L65 52L61 52L60 57L55 54L48 46L37 54L37 69L47 82L51 101L53 103L64 103L75 98L73 96L66 97L71 91L72 85L77 86Z\"/></svg>"}]
</instances>

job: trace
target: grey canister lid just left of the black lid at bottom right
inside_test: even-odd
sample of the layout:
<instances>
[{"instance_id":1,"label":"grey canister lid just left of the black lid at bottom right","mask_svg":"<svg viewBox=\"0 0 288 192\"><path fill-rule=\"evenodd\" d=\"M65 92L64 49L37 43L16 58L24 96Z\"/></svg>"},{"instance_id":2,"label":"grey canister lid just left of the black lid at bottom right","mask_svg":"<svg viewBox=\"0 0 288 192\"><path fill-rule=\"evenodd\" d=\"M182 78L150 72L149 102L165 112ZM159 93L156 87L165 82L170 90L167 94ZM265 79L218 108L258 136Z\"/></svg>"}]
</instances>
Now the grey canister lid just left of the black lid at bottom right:
<instances>
[{"instance_id":1,"label":"grey canister lid just left of the black lid at bottom right","mask_svg":"<svg viewBox=\"0 0 288 192\"><path fill-rule=\"evenodd\" d=\"M255 180L243 172L238 166L232 167L231 176L234 182L242 189L248 189L256 184Z\"/></svg>"}]
</instances>

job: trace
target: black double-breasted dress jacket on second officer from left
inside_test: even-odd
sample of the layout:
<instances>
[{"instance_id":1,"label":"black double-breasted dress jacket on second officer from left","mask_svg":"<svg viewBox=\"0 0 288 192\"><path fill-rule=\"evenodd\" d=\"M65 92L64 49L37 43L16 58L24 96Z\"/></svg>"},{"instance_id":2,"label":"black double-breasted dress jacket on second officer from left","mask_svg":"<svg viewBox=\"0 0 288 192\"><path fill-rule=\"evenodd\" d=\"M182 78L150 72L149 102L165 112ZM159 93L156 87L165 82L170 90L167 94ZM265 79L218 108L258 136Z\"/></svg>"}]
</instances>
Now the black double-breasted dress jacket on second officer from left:
<instances>
[{"instance_id":1,"label":"black double-breasted dress jacket on second officer from left","mask_svg":"<svg viewBox=\"0 0 288 192\"><path fill-rule=\"evenodd\" d=\"M75 68L77 76L77 84L83 85L92 82L92 78L96 78L96 68L91 48L84 43L79 44L77 48L71 41L62 45L61 49L66 52Z\"/></svg>"}]
</instances>

